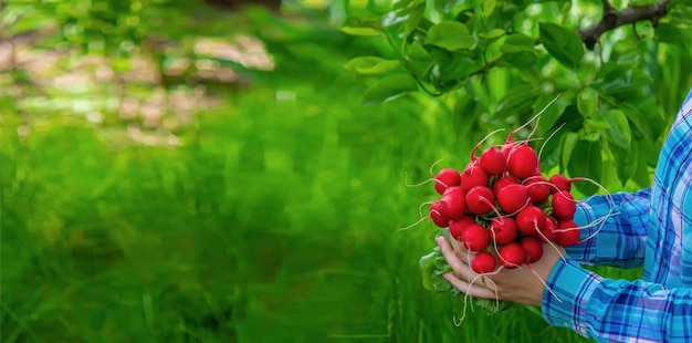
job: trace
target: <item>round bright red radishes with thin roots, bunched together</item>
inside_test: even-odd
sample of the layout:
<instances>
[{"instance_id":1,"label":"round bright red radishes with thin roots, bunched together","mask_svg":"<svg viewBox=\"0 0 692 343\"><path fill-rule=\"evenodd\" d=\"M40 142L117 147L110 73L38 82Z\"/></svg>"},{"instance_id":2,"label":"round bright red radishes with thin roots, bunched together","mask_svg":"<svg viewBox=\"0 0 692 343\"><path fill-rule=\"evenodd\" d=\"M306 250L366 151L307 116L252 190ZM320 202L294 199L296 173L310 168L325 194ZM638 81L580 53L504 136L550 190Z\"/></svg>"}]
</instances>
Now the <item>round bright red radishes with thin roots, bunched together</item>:
<instances>
[{"instance_id":1,"label":"round bright red radishes with thin roots, bunched together","mask_svg":"<svg viewBox=\"0 0 692 343\"><path fill-rule=\"evenodd\" d=\"M463 170L443 168L433 176L441 196L430 205L429 218L448 228L453 239L473 251L471 268L482 274L533 263L543 256L542 242L563 247L579 242L573 221L574 179L546 178L538 155L525 142L491 146L471 153Z\"/></svg>"}]
</instances>

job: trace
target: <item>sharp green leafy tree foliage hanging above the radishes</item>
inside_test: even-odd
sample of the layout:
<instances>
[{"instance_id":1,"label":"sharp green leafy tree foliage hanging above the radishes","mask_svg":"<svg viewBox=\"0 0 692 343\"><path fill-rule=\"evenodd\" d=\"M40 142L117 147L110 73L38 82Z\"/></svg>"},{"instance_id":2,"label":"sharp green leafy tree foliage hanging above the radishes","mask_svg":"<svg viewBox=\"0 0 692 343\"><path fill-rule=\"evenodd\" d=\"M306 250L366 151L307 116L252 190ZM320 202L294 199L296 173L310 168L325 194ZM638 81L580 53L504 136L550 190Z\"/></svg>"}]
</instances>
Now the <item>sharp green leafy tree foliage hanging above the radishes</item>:
<instances>
[{"instance_id":1,"label":"sharp green leafy tree foliage hanging above the radishes","mask_svg":"<svg viewBox=\"0 0 692 343\"><path fill-rule=\"evenodd\" d=\"M594 50L585 32L608 15L630 20L631 11L616 10L627 3L614 2L599 22L594 1L403 0L387 10L375 2L343 28L390 46L346 64L370 84L366 105L424 91L454 116L458 134L473 135L524 123L559 96L536 124L544 137L555 134L543 142L542 165L610 189L650 185L657 147L692 85L689 2L630 3L628 11L668 12L599 31Z\"/></svg>"}]
</instances>

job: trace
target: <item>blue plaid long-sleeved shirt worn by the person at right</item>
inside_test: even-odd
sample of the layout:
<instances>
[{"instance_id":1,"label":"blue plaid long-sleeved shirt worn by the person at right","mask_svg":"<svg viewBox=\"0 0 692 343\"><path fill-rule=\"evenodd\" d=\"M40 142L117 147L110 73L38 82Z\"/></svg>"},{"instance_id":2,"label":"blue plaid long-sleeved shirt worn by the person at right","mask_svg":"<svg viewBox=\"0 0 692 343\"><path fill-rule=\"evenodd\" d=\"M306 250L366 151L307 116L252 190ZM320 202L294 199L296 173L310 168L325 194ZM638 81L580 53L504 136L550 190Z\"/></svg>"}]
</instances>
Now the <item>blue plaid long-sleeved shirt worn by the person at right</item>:
<instances>
[{"instance_id":1,"label":"blue plaid long-sleeved shirt worn by the person at right","mask_svg":"<svg viewBox=\"0 0 692 343\"><path fill-rule=\"evenodd\" d=\"M661 149L651 188L614 195L617 216L584 243L567 248L548 279L542 311L556 326L599 342L692 342L692 91ZM578 206L587 225L611 209L605 196ZM586 238L599 227L584 229ZM643 267L636 281L581 268Z\"/></svg>"}]
</instances>

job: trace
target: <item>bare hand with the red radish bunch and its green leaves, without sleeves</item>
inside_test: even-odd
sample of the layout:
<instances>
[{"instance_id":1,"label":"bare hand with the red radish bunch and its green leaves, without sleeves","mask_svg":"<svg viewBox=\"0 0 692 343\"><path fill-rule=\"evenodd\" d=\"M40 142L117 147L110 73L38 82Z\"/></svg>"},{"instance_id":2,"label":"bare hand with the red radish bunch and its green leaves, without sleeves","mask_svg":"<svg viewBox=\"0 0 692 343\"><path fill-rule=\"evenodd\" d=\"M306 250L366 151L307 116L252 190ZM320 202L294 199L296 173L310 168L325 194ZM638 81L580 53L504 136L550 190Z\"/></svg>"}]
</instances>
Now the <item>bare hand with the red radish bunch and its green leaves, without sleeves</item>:
<instances>
[{"instance_id":1,"label":"bare hand with the red radish bunch and its green leaves, without sleeves","mask_svg":"<svg viewBox=\"0 0 692 343\"><path fill-rule=\"evenodd\" d=\"M463 170L431 170L441 197L430 202L427 219L440 232L438 247L420 260L426 289L464 293L487 313L515 302L539 305L544 289L551 291L546 278L565 256L563 247L590 238L580 239L585 227L574 222L578 201L570 194L572 183L588 179L546 178L539 153L528 145L533 133L513 139L530 123L476 156L481 141Z\"/></svg>"}]
</instances>

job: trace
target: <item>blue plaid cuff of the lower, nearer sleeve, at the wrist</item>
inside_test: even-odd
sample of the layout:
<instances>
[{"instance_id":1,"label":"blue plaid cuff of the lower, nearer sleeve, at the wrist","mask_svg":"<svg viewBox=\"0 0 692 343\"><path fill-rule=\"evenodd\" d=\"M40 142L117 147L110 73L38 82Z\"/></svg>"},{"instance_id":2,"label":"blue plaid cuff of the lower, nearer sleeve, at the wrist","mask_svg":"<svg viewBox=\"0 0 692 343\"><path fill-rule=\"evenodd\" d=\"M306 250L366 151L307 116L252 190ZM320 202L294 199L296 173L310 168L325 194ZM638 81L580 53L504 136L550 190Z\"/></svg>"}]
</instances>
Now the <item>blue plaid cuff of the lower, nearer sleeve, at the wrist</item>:
<instances>
[{"instance_id":1,"label":"blue plaid cuff of the lower, nearer sleeve, at the wrist","mask_svg":"<svg viewBox=\"0 0 692 343\"><path fill-rule=\"evenodd\" d=\"M594 332L589 330L593 321L588 318L588 301L601 281L601 277L581 268L569 257L558 260L543 292L543 318L551 325L569 328L588 336L589 331Z\"/></svg>"}]
</instances>

